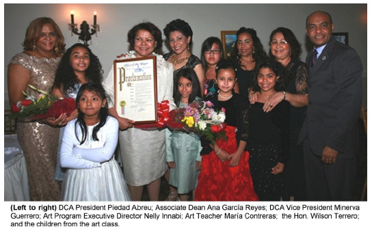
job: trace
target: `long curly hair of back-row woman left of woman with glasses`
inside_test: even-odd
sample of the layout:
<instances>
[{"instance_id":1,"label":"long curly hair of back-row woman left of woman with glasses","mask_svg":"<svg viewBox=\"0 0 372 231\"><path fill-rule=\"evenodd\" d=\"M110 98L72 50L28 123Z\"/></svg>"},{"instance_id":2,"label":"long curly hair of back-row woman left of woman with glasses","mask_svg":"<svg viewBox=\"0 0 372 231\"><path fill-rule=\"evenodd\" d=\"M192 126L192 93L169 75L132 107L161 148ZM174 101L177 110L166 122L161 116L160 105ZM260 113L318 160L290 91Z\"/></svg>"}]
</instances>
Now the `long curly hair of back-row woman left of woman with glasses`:
<instances>
[{"instance_id":1,"label":"long curly hair of back-row woman left of woman with glasses","mask_svg":"<svg viewBox=\"0 0 372 231\"><path fill-rule=\"evenodd\" d=\"M261 43L260 38L257 37L257 33L253 28L245 28L245 27L240 27L239 30L237 31L237 38L241 33L248 33L253 40L253 49L254 53L252 54L253 60L256 63L262 62L263 59L267 58L267 55L265 53L265 50L263 49L263 45ZM231 57L239 60L241 58L237 44L235 42L235 46L233 48L233 51L231 51Z\"/></svg>"}]
</instances>

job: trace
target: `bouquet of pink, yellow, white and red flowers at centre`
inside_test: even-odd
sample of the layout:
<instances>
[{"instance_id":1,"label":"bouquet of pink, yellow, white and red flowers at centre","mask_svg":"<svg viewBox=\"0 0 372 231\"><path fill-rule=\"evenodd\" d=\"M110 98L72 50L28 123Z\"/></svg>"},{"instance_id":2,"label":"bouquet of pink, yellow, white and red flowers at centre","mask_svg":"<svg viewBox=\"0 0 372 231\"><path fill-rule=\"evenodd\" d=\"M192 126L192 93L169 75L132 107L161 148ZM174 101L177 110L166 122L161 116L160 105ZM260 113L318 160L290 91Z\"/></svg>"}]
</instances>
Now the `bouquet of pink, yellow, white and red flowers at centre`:
<instances>
[{"instance_id":1,"label":"bouquet of pink, yellow, white and red flowers at centre","mask_svg":"<svg viewBox=\"0 0 372 231\"><path fill-rule=\"evenodd\" d=\"M226 139L225 118L224 108L217 111L213 109L211 101L201 101L171 111L168 126L198 133L200 137L214 144L216 139Z\"/></svg>"}]
</instances>

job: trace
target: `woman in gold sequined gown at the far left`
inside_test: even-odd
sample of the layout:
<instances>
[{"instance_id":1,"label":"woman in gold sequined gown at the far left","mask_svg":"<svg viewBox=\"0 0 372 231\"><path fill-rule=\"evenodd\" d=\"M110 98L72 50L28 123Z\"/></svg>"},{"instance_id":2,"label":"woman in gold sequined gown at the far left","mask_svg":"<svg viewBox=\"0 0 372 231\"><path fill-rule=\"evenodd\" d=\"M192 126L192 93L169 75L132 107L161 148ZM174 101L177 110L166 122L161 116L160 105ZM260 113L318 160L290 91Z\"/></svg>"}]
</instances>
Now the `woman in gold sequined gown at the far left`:
<instances>
[{"instance_id":1,"label":"woman in gold sequined gown at the far left","mask_svg":"<svg viewBox=\"0 0 372 231\"><path fill-rule=\"evenodd\" d=\"M55 70L64 52L64 36L51 18L36 18L27 28L22 53L8 66L10 105L24 100L22 91L38 96L27 85L49 92ZM66 124L66 114L38 122L18 121L17 137L25 154L31 200L60 200L61 188L54 180L59 137L58 126Z\"/></svg>"}]
</instances>

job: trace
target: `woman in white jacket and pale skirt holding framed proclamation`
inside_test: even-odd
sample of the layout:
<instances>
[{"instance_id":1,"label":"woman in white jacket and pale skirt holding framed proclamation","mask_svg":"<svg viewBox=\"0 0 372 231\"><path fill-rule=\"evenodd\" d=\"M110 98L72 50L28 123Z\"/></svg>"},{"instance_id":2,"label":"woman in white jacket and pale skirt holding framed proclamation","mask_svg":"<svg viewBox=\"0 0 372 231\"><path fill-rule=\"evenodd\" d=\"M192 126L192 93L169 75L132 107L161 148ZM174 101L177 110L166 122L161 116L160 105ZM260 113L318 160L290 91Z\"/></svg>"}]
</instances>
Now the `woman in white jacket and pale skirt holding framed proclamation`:
<instances>
[{"instance_id":1,"label":"woman in white jacket and pale skirt holding framed proclamation","mask_svg":"<svg viewBox=\"0 0 372 231\"><path fill-rule=\"evenodd\" d=\"M135 57L157 58L157 100L169 100L170 110L174 109L173 102L173 68L161 55L154 53L160 49L163 40L161 31L152 23L139 23L128 32L128 42L134 51L129 51L118 59ZM124 168L124 178L129 185L133 201L142 198L144 185L147 185L150 200L159 200L160 178L167 170L165 163L165 129L144 131L133 128L133 120L118 116L114 107L114 68L111 68L103 81L107 92L109 114L118 122L120 154ZM124 131L123 131L124 130Z\"/></svg>"}]
</instances>

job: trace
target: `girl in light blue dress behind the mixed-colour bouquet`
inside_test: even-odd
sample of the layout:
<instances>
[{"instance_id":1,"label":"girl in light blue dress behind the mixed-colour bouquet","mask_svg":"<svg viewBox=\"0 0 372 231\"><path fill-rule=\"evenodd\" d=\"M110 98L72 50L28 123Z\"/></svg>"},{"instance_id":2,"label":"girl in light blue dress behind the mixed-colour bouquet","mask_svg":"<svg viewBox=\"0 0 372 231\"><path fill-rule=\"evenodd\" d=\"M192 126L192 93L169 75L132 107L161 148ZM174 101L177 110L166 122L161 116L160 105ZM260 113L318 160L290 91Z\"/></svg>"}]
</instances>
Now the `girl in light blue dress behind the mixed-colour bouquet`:
<instances>
[{"instance_id":1,"label":"girl in light blue dress behind the mixed-colour bouquet","mask_svg":"<svg viewBox=\"0 0 372 231\"><path fill-rule=\"evenodd\" d=\"M200 100L200 86L196 73L190 68L180 70L174 79L174 103L178 108ZM196 133L166 131L166 161L170 167L170 194L168 200L187 201L193 198L200 172L200 139Z\"/></svg>"}]
</instances>

